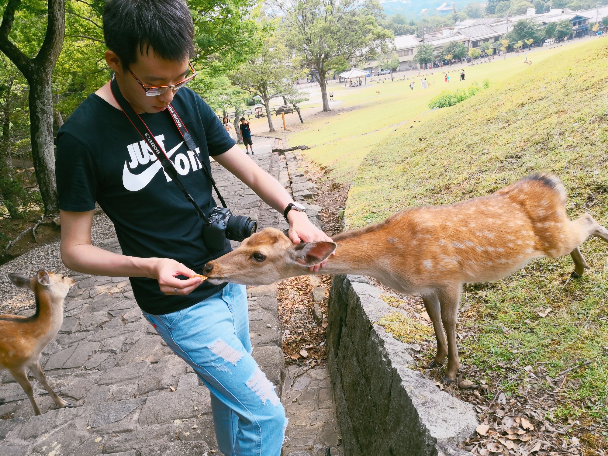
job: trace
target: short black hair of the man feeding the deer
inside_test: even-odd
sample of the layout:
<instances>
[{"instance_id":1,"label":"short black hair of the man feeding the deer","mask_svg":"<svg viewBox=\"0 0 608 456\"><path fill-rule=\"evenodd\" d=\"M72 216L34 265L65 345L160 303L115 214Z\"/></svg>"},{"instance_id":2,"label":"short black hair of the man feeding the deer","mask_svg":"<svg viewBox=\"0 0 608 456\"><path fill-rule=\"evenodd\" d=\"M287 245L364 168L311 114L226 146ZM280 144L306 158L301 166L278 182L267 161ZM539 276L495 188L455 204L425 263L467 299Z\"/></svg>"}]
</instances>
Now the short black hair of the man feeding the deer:
<instances>
[{"instance_id":1,"label":"short black hair of the man feeding the deer","mask_svg":"<svg viewBox=\"0 0 608 456\"><path fill-rule=\"evenodd\" d=\"M182 0L108 0L103 36L122 67L137 61L137 52L179 61L194 54L194 24Z\"/></svg>"}]
</instances>

